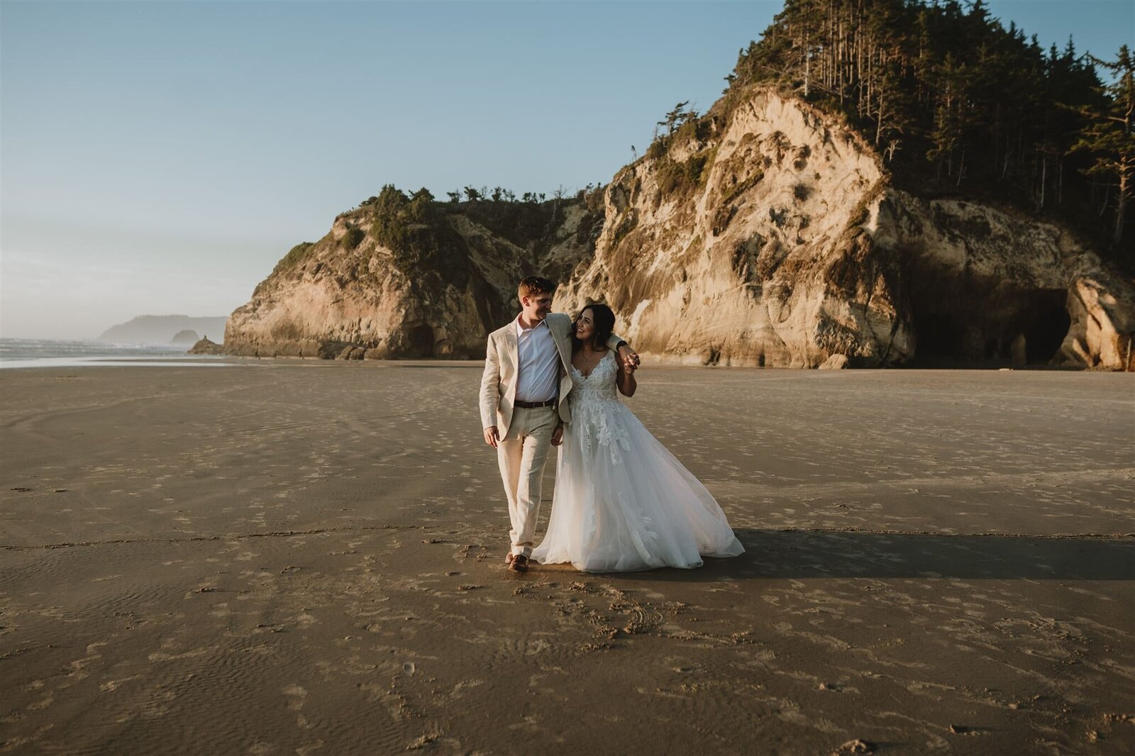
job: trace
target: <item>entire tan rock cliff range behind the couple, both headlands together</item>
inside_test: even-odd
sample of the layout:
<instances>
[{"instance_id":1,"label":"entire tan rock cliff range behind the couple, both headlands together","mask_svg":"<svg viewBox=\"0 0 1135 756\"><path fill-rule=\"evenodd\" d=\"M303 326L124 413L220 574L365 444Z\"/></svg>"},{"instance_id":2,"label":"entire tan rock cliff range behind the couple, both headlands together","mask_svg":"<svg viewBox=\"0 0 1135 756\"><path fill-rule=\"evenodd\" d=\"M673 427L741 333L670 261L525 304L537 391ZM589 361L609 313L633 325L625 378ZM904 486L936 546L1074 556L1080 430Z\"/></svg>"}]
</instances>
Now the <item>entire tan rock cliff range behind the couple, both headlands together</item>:
<instances>
[{"instance_id":1,"label":"entire tan rock cliff range behind the couple, both headlands together","mask_svg":"<svg viewBox=\"0 0 1135 756\"><path fill-rule=\"evenodd\" d=\"M1135 289L1067 229L899 191L852 129L772 90L658 140L602 203L414 196L384 190L293 250L226 348L479 358L543 272L557 309L607 302L657 361L1132 367Z\"/></svg>"}]
</instances>

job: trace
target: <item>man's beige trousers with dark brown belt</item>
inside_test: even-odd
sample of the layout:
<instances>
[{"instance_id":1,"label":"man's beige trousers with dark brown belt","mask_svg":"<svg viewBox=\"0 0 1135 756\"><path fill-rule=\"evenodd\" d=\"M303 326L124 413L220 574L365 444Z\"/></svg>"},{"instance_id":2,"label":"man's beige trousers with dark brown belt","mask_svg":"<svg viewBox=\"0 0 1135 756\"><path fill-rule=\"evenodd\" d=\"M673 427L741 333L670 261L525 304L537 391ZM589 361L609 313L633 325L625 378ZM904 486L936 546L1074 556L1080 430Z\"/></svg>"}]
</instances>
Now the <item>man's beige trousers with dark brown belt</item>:
<instances>
[{"instance_id":1,"label":"man's beige trousers with dark brown belt","mask_svg":"<svg viewBox=\"0 0 1135 756\"><path fill-rule=\"evenodd\" d=\"M550 406L516 408L508 426L508 437L497 443L497 462L504 493L508 497L512 553L529 556L540 515L540 489L544 465L556 429L556 411Z\"/></svg>"}]
</instances>

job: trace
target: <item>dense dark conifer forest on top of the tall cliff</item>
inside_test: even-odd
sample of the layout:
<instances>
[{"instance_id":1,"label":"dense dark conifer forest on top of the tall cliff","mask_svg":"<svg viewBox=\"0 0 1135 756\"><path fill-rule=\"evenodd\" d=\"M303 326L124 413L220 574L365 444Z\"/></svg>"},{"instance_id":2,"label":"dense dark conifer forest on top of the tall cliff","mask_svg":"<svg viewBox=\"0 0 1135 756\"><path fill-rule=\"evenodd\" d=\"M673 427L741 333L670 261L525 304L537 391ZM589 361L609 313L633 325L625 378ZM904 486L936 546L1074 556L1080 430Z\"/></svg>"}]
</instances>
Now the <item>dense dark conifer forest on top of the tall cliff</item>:
<instances>
[{"instance_id":1,"label":"dense dark conifer forest on top of the tall cliff","mask_svg":"<svg viewBox=\"0 0 1135 756\"><path fill-rule=\"evenodd\" d=\"M1133 73L1126 47L1110 64L1071 39L1045 51L982 0L787 0L740 52L722 106L777 86L843 114L900 186L1062 217L1130 269Z\"/></svg>"}]
</instances>

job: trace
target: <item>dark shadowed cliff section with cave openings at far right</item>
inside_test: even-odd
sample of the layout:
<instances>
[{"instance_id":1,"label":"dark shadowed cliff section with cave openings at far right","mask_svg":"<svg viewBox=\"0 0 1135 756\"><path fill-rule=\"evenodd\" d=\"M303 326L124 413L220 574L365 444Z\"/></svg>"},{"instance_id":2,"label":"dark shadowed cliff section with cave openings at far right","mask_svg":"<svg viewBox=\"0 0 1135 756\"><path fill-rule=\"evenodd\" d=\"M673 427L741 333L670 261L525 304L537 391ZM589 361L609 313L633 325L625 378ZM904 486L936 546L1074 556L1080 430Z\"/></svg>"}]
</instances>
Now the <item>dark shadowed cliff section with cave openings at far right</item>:
<instances>
[{"instance_id":1,"label":"dark shadowed cliff section with cave openings at far right","mask_svg":"<svg viewBox=\"0 0 1135 756\"><path fill-rule=\"evenodd\" d=\"M902 261L920 362L1129 369L1135 291L1067 229L891 190L872 240Z\"/></svg>"}]
</instances>

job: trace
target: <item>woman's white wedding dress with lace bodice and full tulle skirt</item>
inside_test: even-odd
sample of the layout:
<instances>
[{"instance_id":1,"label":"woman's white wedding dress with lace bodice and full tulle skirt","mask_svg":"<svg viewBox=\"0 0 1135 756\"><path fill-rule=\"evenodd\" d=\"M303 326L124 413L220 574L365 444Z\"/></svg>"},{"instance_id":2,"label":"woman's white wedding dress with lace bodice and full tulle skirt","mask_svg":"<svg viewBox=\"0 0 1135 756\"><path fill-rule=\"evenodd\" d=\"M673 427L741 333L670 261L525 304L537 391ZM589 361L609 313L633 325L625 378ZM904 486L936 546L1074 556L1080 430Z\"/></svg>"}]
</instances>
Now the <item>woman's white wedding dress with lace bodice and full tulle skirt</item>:
<instances>
[{"instance_id":1,"label":"woman's white wedding dress with lace bodice and full tulle skirt","mask_svg":"<svg viewBox=\"0 0 1135 756\"><path fill-rule=\"evenodd\" d=\"M590 375L571 368L571 422L541 564L585 572L701 566L745 552L706 487L619 401L607 352Z\"/></svg>"}]
</instances>

